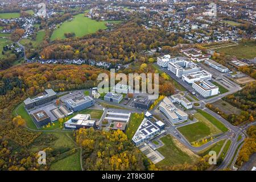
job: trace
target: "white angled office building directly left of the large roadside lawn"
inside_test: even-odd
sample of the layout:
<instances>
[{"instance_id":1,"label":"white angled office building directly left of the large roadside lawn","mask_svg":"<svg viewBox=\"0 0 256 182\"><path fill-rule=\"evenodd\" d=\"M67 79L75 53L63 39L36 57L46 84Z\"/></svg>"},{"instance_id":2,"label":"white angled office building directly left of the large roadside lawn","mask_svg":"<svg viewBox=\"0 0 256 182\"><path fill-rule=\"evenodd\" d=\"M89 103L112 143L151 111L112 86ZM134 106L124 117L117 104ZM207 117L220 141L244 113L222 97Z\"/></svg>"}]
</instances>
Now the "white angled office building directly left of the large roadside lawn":
<instances>
[{"instance_id":1,"label":"white angled office building directly left of the large roadside lawn","mask_svg":"<svg viewBox=\"0 0 256 182\"><path fill-rule=\"evenodd\" d=\"M184 122L188 119L188 114L184 111L177 109L170 98L165 97L164 100L159 105L159 110L166 115L172 123Z\"/></svg>"}]
</instances>

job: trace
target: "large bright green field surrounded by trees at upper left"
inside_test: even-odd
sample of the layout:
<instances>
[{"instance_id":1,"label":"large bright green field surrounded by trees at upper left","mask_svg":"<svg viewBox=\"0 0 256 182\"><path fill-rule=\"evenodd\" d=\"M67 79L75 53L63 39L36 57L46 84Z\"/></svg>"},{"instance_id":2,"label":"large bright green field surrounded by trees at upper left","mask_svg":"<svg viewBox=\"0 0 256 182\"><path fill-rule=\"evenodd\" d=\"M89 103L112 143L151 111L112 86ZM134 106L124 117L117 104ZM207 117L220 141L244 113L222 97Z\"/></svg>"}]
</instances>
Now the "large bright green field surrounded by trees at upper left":
<instances>
[{"instance_id":1,"label":"large bright green field surrounded by trees at upper left","mask_svg":"<svg viewBox=\"0 0 256 182\"><path fill-rule=\"evenodd\" d=\"M111 21L115 23L116 21ZM106 29L106 22L97 22L96 20L87 18L84 14L78 14L73 17L73 20L66 21L60 25L51 36L51 41L56 39L65 39L64 33L74 32L76 37L81 37L87 34L93 34L98 30Z\"/></svg>"}]
</instances>

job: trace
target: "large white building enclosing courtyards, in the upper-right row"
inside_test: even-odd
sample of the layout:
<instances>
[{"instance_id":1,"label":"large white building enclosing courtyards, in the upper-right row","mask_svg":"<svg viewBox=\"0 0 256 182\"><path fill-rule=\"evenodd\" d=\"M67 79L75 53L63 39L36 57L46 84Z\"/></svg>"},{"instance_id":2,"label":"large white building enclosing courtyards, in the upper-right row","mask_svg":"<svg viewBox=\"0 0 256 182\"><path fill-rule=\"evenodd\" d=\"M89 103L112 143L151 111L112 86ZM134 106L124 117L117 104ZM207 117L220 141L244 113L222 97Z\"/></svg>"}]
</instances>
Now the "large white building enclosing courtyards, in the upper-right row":
<instances>
[{"instance_id":1,"label":"large white building enclosing courtyards, in the upper-right row","mask_svg":"<svg viewBox=\"0 0 256 182\"><path fill-rule=\"evenodd\" d=\"M181 78L182 75L199 72L201 67L188 60L177 60L168 63L168 70L174 73L177 77Z\"/></svg>"}]
</instances>

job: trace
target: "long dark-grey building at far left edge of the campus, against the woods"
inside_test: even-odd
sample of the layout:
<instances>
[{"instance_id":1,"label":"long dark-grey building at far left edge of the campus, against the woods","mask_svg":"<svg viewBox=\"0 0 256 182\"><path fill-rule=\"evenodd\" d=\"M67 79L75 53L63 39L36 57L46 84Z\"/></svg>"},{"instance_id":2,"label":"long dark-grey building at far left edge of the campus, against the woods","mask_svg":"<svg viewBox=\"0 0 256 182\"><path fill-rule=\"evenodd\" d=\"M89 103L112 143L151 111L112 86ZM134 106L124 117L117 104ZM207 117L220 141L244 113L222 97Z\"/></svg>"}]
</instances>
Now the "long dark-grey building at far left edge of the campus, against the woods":
<instances>
[{"instance_id":1,"label":"long dark-grey building at far left edge of the campus, against the woods","mask_svg":"<svg viewBox=\"0 0 256 182\"><path fill-rule=\"evenodd\" d=\"M40 94L40 96L36 98L27 98L24 100L25 107L27 109L31 109L35 106L39 106L42 104L46 104L47 102L51 102L52 100L55 100L57 98L56 93L52 89L46 89L43 93Z\"/></svg>"}]
</instances>

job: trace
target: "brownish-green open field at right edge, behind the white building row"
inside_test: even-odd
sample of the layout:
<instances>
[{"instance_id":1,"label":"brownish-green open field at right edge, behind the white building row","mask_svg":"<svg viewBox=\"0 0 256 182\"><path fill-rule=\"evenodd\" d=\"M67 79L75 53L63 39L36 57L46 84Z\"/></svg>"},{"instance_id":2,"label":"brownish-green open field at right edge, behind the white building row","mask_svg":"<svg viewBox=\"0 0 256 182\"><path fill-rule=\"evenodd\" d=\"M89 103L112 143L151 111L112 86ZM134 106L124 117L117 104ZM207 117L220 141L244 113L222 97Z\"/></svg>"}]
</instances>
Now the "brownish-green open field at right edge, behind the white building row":
<instances>
[{"instance_id":1,"label":"brownish-green open field at right edge, behind the white building row","mask_svg":"<svg viewBox=\"0 0 256 182\"><path fill-rule=\"evenodd\" d=\"M220 48L217 51L238 59L253 59L256 57L256 42L240 42L237 46Z\"/></svg>"}]
</instances>

